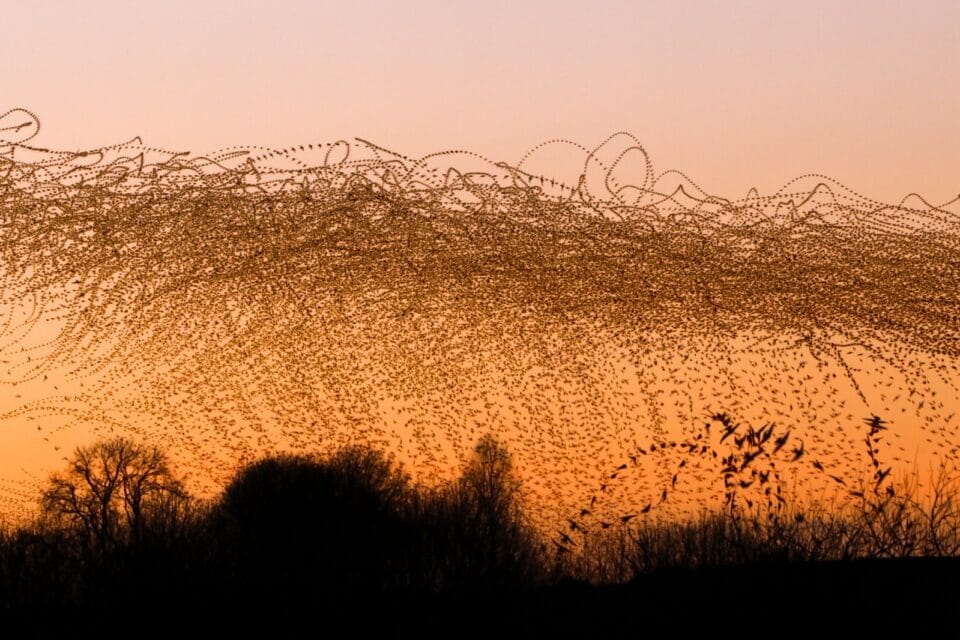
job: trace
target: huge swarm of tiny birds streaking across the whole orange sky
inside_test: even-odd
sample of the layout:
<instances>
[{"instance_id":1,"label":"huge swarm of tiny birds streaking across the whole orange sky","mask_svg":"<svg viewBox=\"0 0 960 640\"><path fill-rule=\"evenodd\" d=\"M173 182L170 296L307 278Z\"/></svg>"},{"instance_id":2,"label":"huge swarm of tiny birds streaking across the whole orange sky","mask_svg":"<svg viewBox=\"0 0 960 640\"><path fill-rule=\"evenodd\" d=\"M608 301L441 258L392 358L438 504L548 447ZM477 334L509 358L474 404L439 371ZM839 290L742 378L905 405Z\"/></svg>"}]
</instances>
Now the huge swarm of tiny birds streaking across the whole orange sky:
<instances>
[{"instance_id":1,"label":"huge swarm of tiny birds streaking across the whole orange sky","mask_svg":"<svg viewBox=\"0 0 960 640\"><path fill-rule=\"evenodd\" d=\"M729 200L624 133L509 165L362 139L67 152L39 127L0 114L0 419L57 457L121 432L216 487L363 442L428 481L493 432L544 518L600 496L613 522L709 499L666 455L704 415L786 427L778 456L835 470L872 413L904 462L960 455L960 197L807 175ZM532 168L557 148L575 179Z\"/></svg>"}]
</instances>

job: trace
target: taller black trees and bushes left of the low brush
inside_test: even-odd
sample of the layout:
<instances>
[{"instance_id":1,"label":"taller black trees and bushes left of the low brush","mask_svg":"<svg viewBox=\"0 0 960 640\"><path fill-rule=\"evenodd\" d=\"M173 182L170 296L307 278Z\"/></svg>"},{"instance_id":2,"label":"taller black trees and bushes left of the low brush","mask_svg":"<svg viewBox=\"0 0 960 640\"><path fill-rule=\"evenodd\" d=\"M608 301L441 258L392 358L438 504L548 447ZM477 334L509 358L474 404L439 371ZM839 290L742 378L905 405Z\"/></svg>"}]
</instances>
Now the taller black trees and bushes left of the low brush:
<instances>
[{"instance_id":1,"label":"taller black trees and bushes left of the low brush","mask_svg":"<svg viewBox=\"0 0 960 640\"><path fill-rule=\"evenodd\" d=\"M78 449L41 507L0 537L7 615L110 617L173 598L159 609L282 616L546 578L509 453L492 438L439 487L350 447L262 459L212 502L192 499L157 448L115 439Z\"/></svg>"}]
</instances>

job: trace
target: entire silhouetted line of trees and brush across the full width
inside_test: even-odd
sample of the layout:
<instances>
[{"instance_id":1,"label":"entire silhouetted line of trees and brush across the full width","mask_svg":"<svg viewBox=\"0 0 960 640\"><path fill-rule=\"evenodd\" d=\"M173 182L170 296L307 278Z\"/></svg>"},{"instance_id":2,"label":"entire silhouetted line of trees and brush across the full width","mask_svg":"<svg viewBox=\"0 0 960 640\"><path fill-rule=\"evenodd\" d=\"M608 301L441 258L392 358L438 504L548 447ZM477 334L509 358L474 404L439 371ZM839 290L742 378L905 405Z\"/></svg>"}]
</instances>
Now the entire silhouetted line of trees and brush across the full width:
<instances>
[{"instance_id":1,"label":"entire silhouetted line of trees and brush across the full width","mask_svg":"<svg viewBox=\"0 0 960 640\"><path fill-rule=\"evenodd\" d=\"M955 475L938 476L925 501L916 487L876 475L872 491L832 509L775 503L750 511L731 489L725 510L688 522L636 518L585 530L571 519L570 530L545 537L524 510L509 451L491 437L459 478L435 487L413 483L382 452L348 447L261 459L212 501L192 498L158 448L105 440L77 449L51 476L36 522L0 534L0 613L51 632L119 617L243 627L250 617L321 616L393 628L387 617L451 616L465 603L474 614L478 602L607 606L584 595L596 590L587 585L644 588L646 606L662 608L663 586L678 570L714 575L730 594L731 578L710 571L960 556ZM755 579L737 571L734 584ZM693 574L681 575L695 598ZM797 584L811 593L845 584L824 575L819 586ZM878 575L902 578L890 569ZM706 601L717 597L704 592ZM370 617L358 618L358 609Z\"/></svg>"}]
</instances>

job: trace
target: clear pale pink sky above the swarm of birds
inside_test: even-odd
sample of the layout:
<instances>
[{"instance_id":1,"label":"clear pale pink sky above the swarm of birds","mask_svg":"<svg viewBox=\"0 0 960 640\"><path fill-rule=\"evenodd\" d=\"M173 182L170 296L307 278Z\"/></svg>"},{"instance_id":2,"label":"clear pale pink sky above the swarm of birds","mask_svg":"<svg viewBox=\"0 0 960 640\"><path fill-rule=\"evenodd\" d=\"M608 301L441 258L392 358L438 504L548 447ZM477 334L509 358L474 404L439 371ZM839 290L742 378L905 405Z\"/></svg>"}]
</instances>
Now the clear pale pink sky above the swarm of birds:
<instances>
[{"instance_id":1,"label":"clear pale pink sky above the swarm of birds","mask_svg":"<svg viewBox=\"0 0 960 640\"><path fill-rule=\"evenodd\" d=\"M361 137L515 163L625 130L724 197L805 173L960 193L955 0L39 0L0 24L0 113L36 113L51 149Z\"/></svg>"}]
</instances>

